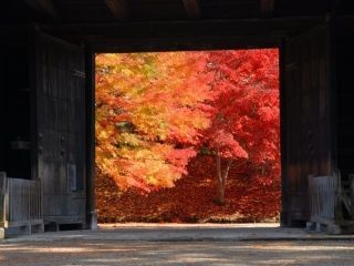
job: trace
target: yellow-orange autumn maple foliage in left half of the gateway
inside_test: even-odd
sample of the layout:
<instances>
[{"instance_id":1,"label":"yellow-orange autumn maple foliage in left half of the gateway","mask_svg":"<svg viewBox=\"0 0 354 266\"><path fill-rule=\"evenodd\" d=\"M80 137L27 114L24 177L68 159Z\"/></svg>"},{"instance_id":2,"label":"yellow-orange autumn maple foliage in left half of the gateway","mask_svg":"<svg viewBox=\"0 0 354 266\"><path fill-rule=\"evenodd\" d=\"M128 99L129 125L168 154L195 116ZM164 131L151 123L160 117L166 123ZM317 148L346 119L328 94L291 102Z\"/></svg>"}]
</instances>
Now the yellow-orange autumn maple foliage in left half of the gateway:
<instances>
[{"instance_id":1,"label":"yellow-orange autumn maple foliage in left half of the gateway","mask_svg":"<svg viewBox=\"0 0 354 266\"><path fill-rule=\"evenodd\" d=\"M205 53L96 55L96 165L125 190L169 187L209 126Z\"/></svg>"}]
</instances>

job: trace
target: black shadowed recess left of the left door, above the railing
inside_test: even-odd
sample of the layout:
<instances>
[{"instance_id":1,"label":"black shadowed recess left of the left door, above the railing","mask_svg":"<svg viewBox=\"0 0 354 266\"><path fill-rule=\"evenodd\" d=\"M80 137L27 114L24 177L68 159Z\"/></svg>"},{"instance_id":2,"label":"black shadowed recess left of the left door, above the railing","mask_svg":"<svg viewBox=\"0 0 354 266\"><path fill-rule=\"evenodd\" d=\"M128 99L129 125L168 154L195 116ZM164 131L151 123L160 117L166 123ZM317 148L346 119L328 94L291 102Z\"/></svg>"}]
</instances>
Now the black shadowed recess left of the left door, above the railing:
<instances>
[{"instance_id":1,"label":"black shadowed recess left of the left door, above the railing","mask_svg":"<svg viewBox=\"0 0 354 266\"><path fill-rule=\"evenodd\" d=\"M1 43L0 168L9 176L31 178L31 112L29 48L27 43ZM21 79L19 79L21 76Z\"/></svg>"}]
</instances>

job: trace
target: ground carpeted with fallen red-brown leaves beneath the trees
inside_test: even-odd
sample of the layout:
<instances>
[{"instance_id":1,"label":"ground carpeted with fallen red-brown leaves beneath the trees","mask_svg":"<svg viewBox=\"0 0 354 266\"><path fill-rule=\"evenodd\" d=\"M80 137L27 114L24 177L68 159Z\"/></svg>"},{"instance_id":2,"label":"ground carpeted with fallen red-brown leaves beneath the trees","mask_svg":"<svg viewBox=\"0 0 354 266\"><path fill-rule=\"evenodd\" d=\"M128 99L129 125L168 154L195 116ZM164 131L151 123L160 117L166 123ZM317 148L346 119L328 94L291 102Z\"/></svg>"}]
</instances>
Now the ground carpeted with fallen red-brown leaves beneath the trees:
<instances>
[{"instance_id":1,"label":"ground carpeted with fallen red-brown leaves beneath the trees","mask_svg":"<svg viewBox=\"0 0 354 266\"><path fill-rule=\"evenodd\" d=\"M119 192L113 180L97 174L96 203L100 223L206 223L278 221L280 181L271 184L231 170L226 187L226 204L214 202L215 163L199 156L188 165L188 176L171 188L148 195L139 191Z\"/></svg>"}]
</instances>

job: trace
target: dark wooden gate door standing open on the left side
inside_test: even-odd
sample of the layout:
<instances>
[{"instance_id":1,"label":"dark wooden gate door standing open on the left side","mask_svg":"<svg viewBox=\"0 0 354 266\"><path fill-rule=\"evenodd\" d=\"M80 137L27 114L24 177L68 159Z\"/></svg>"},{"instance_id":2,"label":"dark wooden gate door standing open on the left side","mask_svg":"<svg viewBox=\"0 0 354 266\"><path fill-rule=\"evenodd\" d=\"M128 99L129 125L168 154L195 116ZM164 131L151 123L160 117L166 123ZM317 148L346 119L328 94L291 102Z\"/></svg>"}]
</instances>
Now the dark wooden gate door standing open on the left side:
<instances>
[{"instance_id":1,"label":"dark wooden gate door standing open on the left side","mask_svg":"<svg viewBox=\"0 0 354 266\"><path fill-rule=\"evenodd\" d=\"M37 175L45 223L85 223L85 73L81 48L35 38Z\"/></svg>"}]
</instances>

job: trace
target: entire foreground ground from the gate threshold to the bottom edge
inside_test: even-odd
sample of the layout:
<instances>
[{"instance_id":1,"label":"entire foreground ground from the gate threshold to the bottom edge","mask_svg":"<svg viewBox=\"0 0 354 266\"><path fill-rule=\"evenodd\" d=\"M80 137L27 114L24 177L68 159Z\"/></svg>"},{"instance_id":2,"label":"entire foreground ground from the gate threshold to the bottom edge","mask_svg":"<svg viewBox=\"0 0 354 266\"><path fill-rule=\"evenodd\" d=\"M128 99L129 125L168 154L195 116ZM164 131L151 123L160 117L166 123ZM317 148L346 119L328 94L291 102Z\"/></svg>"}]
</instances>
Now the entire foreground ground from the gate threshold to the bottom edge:
<instances>
[{"instance_id":1,"label":"entire foreground ground from the gate threshold to the bottom edge","mask_svg":"<svg viewBox=\"0 0 354 266\"><path fill-rule=\"evenodd\" d=\"M225 227L113 226L10 238L0 242L0 265L354 265L353 236L332 238L267 226ZM219 237L220 232L230 237ZM152 237L156 234L163 237ZM283 237L289 234L291 238Z\"/></svg>"}]
</instances>

